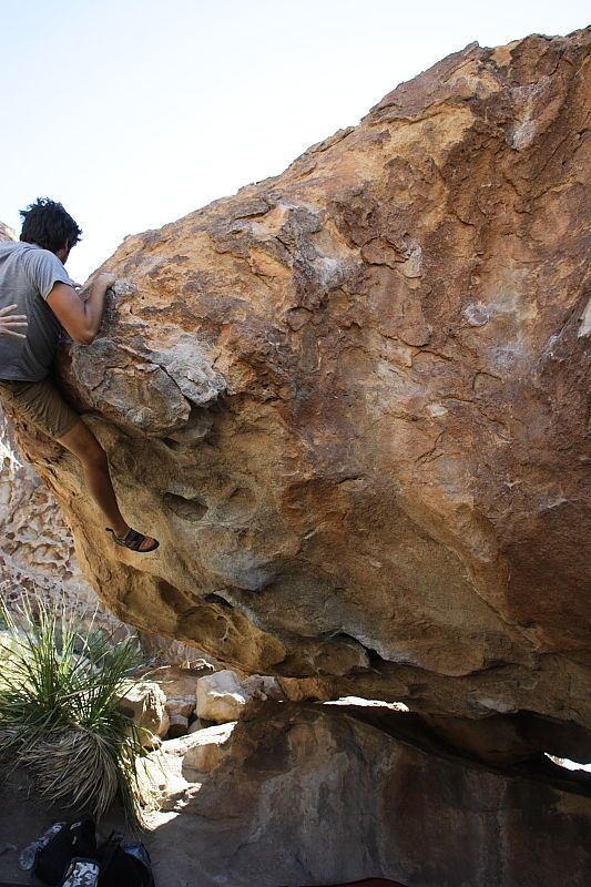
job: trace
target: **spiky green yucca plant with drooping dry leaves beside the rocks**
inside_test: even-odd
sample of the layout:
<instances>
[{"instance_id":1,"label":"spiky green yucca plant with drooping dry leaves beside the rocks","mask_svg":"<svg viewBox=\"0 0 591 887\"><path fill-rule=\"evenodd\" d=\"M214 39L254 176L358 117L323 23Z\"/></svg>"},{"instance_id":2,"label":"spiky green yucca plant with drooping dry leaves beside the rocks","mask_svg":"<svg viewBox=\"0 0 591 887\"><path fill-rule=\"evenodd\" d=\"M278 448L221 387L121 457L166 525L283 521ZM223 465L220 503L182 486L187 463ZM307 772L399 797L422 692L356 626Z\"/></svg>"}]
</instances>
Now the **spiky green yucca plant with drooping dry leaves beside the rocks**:
<instances>
[{"instance_id":1,"label":"spiky green yucca plant with drooping dry leaves beside the rocks","mask_svg":"<svg viewBox=\"0 0 591 887\"><path fill-rule=\"evenodd\" d=\"M140 659L134 639L84 631L75 606L0 601L0 754L24 764L52 802L100 818L119 794L141 823L140 731L119 708Z\"/></svg>"}]
</instances>

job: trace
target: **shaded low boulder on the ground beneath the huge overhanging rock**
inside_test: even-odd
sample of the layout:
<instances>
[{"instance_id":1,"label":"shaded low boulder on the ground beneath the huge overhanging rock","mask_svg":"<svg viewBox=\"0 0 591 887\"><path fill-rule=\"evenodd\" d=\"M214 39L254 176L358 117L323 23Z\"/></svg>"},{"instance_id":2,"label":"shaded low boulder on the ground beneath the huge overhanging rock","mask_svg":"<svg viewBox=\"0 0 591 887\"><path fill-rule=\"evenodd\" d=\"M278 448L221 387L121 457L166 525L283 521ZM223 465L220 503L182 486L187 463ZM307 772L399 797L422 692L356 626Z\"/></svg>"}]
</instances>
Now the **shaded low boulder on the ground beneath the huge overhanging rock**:
<instances>
[{"instance_id":1,"label":"shaded low boulder on the ground beneath the huge overhanging rock","mask_svg":"<svg viewBox=\"0 0 591 887\"><path fill-rule=\"evenodd\" d=\"M387 735L363 712L292 703L253 703L222 747L165 745L188 785L177 782L176 815L156 818L150 850L177 847L200 887L589 885L589 783L544 785ZM195 762L207 775L191 774Z\"/></svg>"}]
</instances>

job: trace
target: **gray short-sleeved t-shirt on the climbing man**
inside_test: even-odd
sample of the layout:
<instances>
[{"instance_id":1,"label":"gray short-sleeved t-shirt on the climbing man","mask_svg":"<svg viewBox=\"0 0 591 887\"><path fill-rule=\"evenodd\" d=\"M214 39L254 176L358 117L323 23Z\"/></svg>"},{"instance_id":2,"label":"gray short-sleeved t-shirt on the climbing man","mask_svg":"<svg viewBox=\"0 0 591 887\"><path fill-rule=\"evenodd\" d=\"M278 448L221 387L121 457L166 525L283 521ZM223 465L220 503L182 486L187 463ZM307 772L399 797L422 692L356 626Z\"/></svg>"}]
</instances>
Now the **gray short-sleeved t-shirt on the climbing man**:
<instances>
[{"instance_id":1,"label":"gray short-sleeved t-shirt on the climbing man","mask_svg":"<svg viewBox=\"0 0 591 887\"><path fill-rule=\"evenodd\" d=\"M39 381L51 369L62 326L45 299L55 283L72 285L62 263L32 243L0 243L0 308L26 314L27 338L0 336L0 379Z\"/></svg>"}]
</instances>

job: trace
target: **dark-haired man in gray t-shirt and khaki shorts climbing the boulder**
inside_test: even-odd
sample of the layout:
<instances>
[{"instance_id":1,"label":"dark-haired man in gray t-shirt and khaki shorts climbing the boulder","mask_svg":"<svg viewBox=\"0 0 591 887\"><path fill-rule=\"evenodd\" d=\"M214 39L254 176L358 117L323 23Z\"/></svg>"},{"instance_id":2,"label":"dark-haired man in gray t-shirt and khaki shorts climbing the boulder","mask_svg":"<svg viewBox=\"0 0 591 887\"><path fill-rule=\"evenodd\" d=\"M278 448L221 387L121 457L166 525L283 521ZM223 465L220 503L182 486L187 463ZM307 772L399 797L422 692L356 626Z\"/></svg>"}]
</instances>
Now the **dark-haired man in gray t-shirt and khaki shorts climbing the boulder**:
<instances>
[{"instance_id":1,"label":"dark-haired man in gray t-shirt and khaki shorts climbing the boulder","mask_svg":"<svg viewBox=\"0 0 591 887\"><path fill-rule=\"evenodd\" d=\"M82 231L61 203L39 198L21 211L20 242L0 243L0 399L81 462L90 493L119 546L146 553L159 542L133 530L119 509L106 455L51 378L61 334L80 345L95 338L106 290L115 282L99 274L84 293L64 265Z\"/></svg>"}]
</instances>

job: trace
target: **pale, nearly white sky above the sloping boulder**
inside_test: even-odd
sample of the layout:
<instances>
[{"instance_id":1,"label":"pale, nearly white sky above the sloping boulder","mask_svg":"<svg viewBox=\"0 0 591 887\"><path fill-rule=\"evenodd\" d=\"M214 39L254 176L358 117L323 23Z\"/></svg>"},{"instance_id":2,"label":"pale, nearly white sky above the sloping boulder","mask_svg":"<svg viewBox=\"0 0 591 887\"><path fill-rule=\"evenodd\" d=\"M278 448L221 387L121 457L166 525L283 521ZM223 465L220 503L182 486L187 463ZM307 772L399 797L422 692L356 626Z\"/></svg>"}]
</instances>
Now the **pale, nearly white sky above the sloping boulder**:
<instances>
[{"instance_id":1,"label":"pale, nearly white sky above the sloping boulder","mask_svg":"<svg viewBox=\"0 0 591 887\"><path fill-rule=\"evenodd\" d=\"M281 173L477 40L589 23L579 0L0 0L0 220L38 196L84 231L80 282L126 234Z\"/></svg>"}]
</instances>

